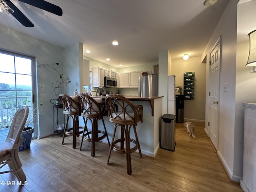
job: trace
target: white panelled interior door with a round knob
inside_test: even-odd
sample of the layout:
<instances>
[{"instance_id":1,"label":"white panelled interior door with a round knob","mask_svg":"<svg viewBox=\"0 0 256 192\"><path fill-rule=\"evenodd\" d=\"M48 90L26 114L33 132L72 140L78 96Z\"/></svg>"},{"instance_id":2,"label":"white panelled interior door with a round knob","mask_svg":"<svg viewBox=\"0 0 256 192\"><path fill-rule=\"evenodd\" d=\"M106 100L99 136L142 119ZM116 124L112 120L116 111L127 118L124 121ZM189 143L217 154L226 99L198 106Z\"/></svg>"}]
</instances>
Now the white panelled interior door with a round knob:
<instances>
[{"instance_id":1,"label":"white panelled interior door with a round knob","mask_svg":"<svg viewBox=\"0 0 256 192\"><path fill-rule=\"evenodd\" d=\"M220 40L210 52L210 108L209 137L218 150L219 133L219 96L220 96Z\"/></svg>"}]
</instances>

